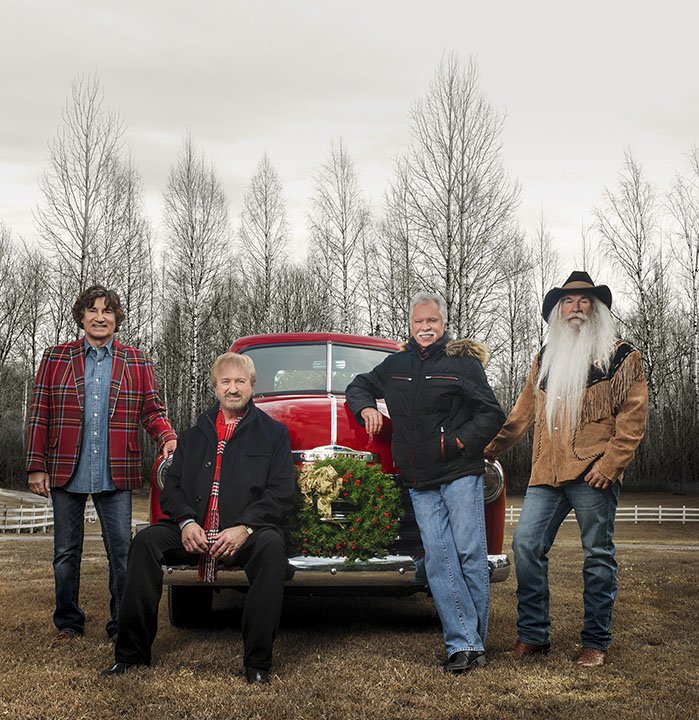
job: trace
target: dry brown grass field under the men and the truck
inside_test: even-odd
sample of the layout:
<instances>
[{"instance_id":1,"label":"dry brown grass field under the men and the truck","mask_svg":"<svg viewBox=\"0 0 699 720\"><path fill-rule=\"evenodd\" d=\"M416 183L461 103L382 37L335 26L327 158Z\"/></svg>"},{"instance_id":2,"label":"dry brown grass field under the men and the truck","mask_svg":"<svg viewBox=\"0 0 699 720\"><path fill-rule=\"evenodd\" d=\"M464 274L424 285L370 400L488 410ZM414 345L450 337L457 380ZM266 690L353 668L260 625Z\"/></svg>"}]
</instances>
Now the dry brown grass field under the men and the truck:
<instances>
[{"instance_id":1,"label":"dry brown grass field under the men and the truck","mask_svg":"<svg viewBox=\"0 0 699 720\"><path fill-rule=\"evenodd\" d=\"M551 557L554 649L548 657L519 664L509 657L513 577L493 588L490 662L465 676L447 676L438 667L439 624L423 596L290 598L273 682L255 687L240 674L234 593L217 596L215 626L196 630L171 628L163 601L152 667L101 678L113 651L104 634L107 569L97 528L90 528L83 558L86 635L61 647L51 645L51 537L0 536L0 719L699 717L699 524L617 528L620 593L604 668L573 662L581 551L575 526L566 525Z\"/></svg>"}]
</instances>

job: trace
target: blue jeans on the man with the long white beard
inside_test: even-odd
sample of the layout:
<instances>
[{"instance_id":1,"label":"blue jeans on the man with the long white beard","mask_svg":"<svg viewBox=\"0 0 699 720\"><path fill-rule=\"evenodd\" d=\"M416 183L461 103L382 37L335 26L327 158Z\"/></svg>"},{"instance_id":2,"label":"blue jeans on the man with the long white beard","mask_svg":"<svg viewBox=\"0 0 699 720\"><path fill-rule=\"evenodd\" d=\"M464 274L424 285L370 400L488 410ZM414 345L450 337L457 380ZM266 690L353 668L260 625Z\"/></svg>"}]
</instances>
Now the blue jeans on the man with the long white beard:
<instances>
[{"instance_id":1,"label":"blue jeans on the man with the long white beard","mask_svg":"<svg viewBox=\"0 0 699 720\"><path fill-rule=\"evenodd\" d=\"M527 488L512 549L517 571L517 637L525 643L551 642L548 552L571 509L584 551L584 647L607 650L611 643L612 608L617 592L614 516L619 483L591 488L582 478L559 487Z\"/></svg>"}]
</instances>

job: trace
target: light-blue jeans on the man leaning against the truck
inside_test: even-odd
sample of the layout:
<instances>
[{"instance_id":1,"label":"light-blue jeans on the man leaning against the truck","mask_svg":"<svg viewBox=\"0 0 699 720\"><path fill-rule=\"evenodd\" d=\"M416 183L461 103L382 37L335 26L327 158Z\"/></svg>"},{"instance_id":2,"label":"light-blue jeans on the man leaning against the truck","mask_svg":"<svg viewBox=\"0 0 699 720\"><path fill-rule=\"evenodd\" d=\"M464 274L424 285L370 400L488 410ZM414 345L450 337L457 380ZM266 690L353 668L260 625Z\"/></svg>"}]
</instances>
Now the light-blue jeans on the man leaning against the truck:
<instances>
[{"instance_id":1,"label":"light-blue jeans on the man leaning against the truck","mask_svg":"<svg viewBox=\"0 0 699 720\"><path fill-rule=\"evenodd\" d=\"M490 603L483 476L469 475L425 490L411 488L410 498L447 656L483 650Z\"/></svg>"}]
</instances>

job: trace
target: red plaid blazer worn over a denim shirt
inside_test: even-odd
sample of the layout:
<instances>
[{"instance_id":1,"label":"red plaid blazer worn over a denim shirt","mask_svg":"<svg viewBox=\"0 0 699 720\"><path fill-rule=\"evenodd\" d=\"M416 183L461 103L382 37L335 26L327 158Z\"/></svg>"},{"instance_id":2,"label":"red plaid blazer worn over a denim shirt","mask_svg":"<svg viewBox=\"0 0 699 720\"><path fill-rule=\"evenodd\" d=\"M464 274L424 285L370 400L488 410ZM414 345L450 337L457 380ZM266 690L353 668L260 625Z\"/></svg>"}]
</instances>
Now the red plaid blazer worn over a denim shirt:
<instances>
[{"instance_id":1,"label":"red plaid blazer worn over a denim shirt","mask_svg":"<svg viewBox=\"0 0 699 720\"><path fill-rule=\"evenodd\" d=\"M82 443L85 399L84 341L44 352L34 381L27 423L27 472L49 474L51 487L65 485L75 471ZM143 485L139 422L158 447L177 436L158 396L153 364L143 352L112 344L109 392L109 464L121 490Z\"/></svg>"}]
</instances>

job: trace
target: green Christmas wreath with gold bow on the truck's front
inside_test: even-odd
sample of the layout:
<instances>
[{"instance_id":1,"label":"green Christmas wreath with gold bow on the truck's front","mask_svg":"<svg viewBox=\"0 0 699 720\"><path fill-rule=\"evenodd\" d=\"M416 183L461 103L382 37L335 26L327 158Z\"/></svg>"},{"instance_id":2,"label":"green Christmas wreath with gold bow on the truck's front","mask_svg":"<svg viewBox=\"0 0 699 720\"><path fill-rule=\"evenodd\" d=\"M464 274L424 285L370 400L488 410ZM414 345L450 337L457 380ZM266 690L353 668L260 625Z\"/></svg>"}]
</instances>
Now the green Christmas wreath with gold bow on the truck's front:
<instances>
[{"instance_id":1,"label":"green Christmas wreath with gold bow on the truck's front","mask_svg":"<svg viewBox=\"0 0 699 720\"><path fill-rule=\"evenodd\" d=\"M298 473L292 543L303 555L347 561L386 555L398 537L400 488L395 480L352 457L318 460ZM332 503L343 519L332 519Z\"/></svg>"}]
</instances>

